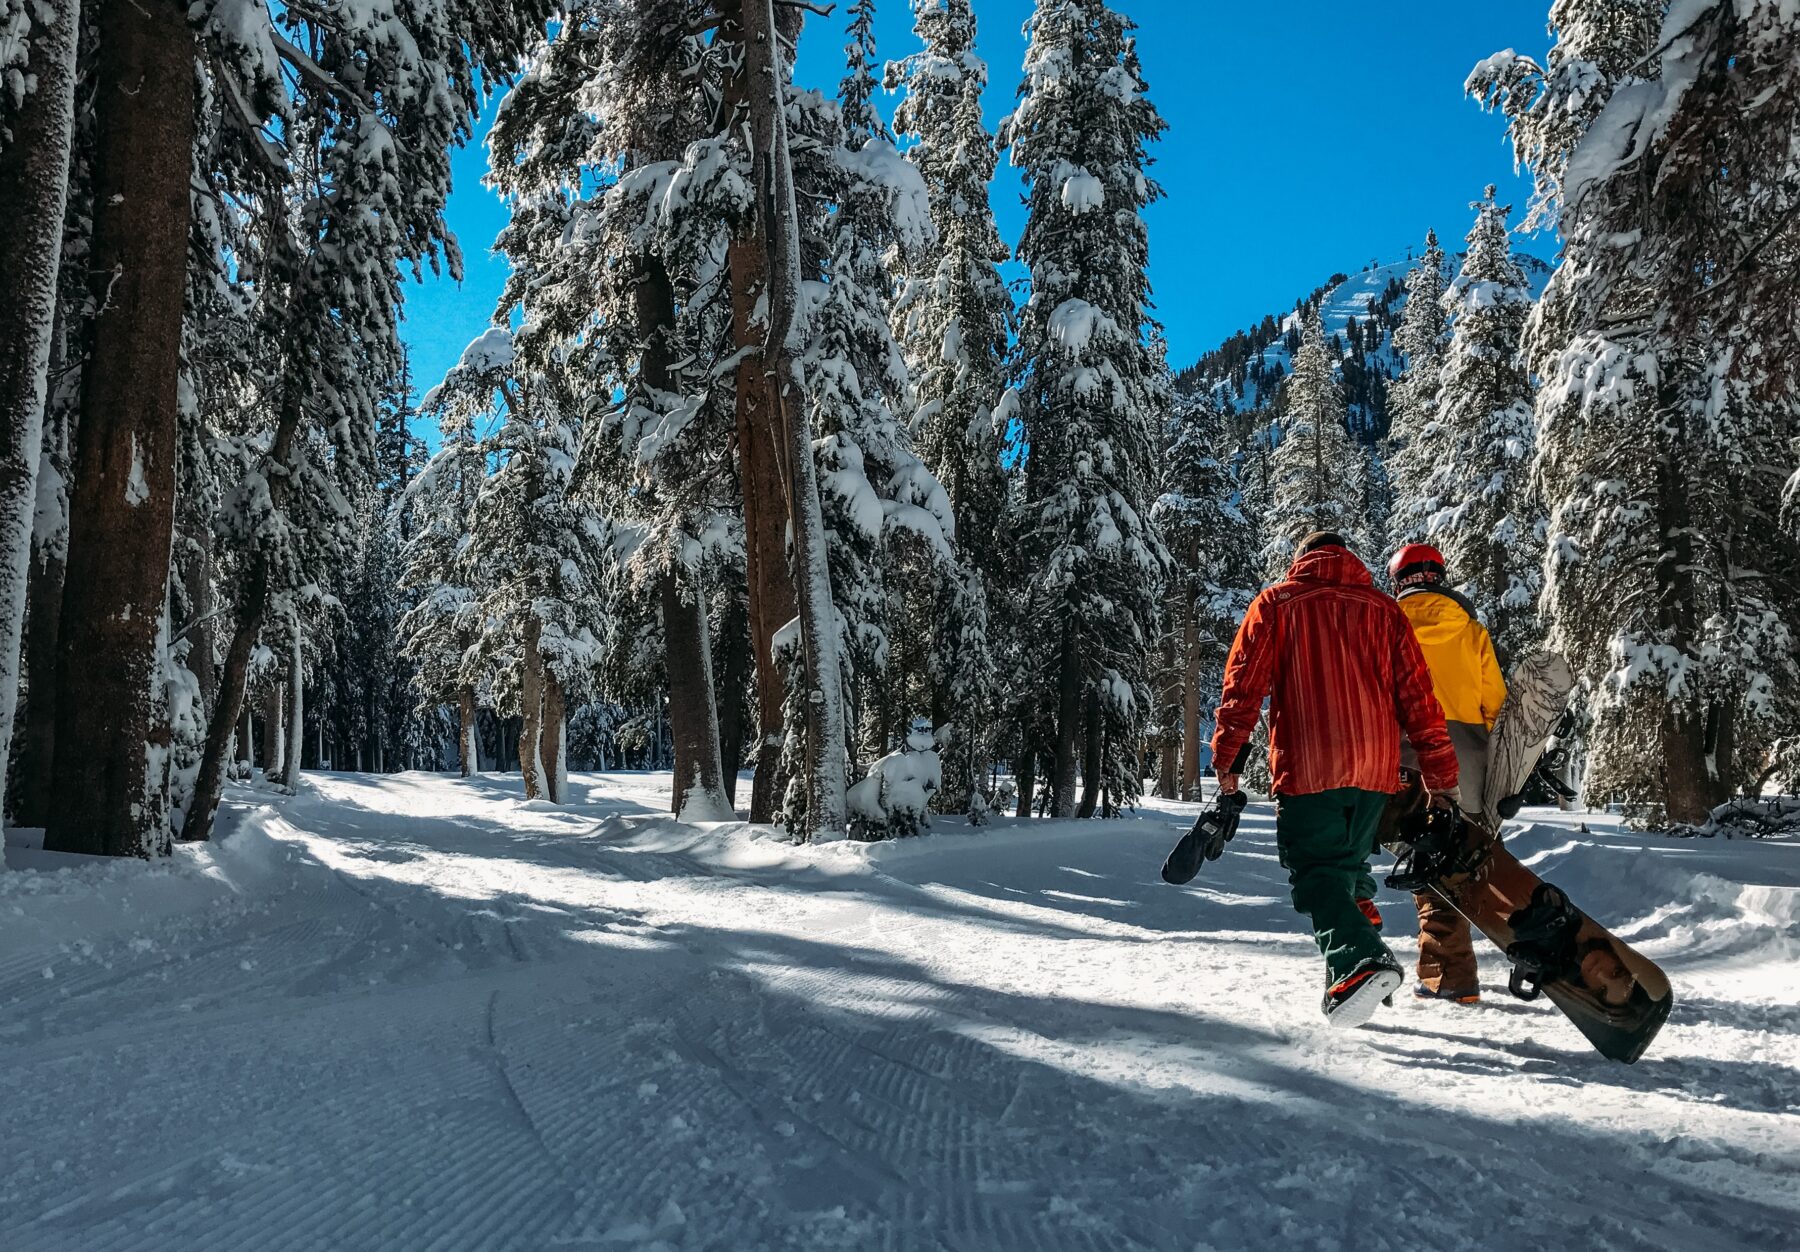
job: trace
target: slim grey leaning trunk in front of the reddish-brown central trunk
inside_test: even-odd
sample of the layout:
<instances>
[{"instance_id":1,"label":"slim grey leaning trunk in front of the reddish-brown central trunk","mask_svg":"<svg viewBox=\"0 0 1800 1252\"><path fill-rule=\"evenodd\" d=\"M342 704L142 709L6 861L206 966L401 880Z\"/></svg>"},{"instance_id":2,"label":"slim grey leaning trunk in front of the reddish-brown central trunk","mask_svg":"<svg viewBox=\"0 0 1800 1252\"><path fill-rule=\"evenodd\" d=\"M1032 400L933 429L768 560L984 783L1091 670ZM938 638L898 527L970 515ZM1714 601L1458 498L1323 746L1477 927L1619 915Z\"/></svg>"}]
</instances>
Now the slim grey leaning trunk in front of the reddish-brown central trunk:
<instances>
[{"instance_id":1,"label":"slim grey leaning trunk in front of the reddish-brown central trunk","mask_svg":"<svg viewBox=\"0 0 1800 1252\"><path fill-rule=\"evenodd\" d=\"M839 680L837 610L832 603L812 430L794 360L805 331L799 309L799 210L794 203L794 164L788 156L781 34L776 27L774 0L745 0L743 63L749 77L751 142L769 255L769 318L761 365L769 378L770 416L776 419L781 478L787 484L801 660L806 675L803 718L806 833L814 840L826 840L842 838L848 831L844 691Z\"/></svg>"}]
</instances>

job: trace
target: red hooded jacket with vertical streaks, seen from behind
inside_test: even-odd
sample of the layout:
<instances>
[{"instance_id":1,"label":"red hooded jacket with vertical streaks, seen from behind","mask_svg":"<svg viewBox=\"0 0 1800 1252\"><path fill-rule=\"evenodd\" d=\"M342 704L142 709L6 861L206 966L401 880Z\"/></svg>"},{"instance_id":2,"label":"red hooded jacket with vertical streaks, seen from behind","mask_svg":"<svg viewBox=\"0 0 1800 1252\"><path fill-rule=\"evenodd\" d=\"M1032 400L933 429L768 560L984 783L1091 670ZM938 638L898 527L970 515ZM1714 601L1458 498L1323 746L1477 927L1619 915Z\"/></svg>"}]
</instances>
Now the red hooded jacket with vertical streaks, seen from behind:
<instances>
[{"instance_id":1,"label":"red hooded jacket with vertical streaks, seen from behind","mask_svg":"<svg viewBox=\"0 0 1800 1252\"><path fill-rule=\"evenodd\" d=\"M1226 662L1213 768L1237 763L1264 696L1276 795L1395 791L1402 732L1426 786L1456 790L1456 750L1413 628L1348 549L1307 552L1251 601Z\"/></svg>"}]
</instances>

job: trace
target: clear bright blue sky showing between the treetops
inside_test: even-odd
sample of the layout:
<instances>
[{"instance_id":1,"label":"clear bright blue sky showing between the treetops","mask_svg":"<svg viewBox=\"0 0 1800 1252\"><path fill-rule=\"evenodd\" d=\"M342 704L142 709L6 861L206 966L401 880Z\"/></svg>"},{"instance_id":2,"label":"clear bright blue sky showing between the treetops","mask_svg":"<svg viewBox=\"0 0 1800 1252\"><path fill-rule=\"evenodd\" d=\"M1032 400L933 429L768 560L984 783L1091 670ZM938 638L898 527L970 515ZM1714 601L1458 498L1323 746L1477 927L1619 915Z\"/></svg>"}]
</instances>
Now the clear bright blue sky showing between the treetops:
<instances>
[{"instance_id":1,"label":"clear bright blue sky showing between the treetops","mask_svg":"<svg viewBox=\"0 0 1800 1252\"><path fill-rule=\"evenodd\" d=\"M1543 52L1546 0L1114 5L1139 25L1150 99L1168 121L1152 171L1166 200L1147 216L1150 281L1177 369L1337 270L1404 257L1427 227L1454 250L1472 221L1469 201L1489 182L1523 210L1526 187L1512 174L1501 124L1463 99L1462 83L1499 49ZM1017 94L1030 11L1030 0L976 0L990 124ZM842 27L842 5L806 18L801 85L835 90ZM882 56L914 49L909 0L882 0ZM407 284L403 336L421 392L488 326L506 279L490 252L506 210L481 185L484 133L486 117L454 160L450 227L464 252L463 282ZM1019 171L1003 156L994 207L1010 243L1024 223L1021 194ZM1546 239L1525 246L1544 257L1553 248Z\"/></svg>"}]
</instances>

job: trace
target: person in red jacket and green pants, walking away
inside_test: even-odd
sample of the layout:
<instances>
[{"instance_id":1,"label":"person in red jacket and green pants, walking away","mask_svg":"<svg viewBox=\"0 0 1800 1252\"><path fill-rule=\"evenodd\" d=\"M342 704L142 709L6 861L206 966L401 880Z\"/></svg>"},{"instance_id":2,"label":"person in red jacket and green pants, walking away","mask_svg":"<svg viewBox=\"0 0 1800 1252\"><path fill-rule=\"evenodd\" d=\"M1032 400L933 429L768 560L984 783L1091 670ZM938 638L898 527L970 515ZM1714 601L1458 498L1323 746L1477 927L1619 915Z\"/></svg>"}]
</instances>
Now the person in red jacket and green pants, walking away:
<instances>
[{"instance_id":1,"label":"person in red jacket and green pants, walking away","mask_svg":"<svg viewBox=\"0 0 1800 1252\"><path fill-rule=\"evenodd\" d=\"M1309 534L1238 626L1213 732L1220 791L1238 790L1265 698L1276 849L1325 955L1325 1015L1361 1025L1402 980L1357 903L1375 894L1370 856L1399 790L1400 736L1433 804L1454 804L1458 779L1413 628L1337 534Z\"/></svg>"}]
</instances>

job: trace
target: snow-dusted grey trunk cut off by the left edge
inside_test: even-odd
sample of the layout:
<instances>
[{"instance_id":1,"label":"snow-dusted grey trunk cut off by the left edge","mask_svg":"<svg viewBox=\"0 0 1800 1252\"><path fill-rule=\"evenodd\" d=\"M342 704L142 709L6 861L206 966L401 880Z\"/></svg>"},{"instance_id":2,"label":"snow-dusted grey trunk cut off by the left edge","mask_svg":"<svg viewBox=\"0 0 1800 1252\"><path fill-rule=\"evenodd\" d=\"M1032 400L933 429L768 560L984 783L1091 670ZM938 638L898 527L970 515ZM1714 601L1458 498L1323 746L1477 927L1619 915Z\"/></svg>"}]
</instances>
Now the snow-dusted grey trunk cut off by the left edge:
<instances>
[{"instance_id":1,"label":"snow-dusted grey trunk cut off by the left edge","mask_svg":"<svg viewBox=\"0 0 1800 1252\"><path fill-rule=\"evenodd\" d=\"M49 11L49 25L41 16ZM79 0L32 9L25 76L36 79L0 146L0 800L18 716L22 637L38 509L38 462L63 261L76 119ZM43 673L50 687L50 673Z\"/></svg>"}]
</instances>

